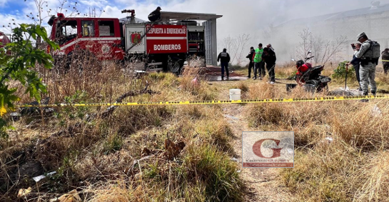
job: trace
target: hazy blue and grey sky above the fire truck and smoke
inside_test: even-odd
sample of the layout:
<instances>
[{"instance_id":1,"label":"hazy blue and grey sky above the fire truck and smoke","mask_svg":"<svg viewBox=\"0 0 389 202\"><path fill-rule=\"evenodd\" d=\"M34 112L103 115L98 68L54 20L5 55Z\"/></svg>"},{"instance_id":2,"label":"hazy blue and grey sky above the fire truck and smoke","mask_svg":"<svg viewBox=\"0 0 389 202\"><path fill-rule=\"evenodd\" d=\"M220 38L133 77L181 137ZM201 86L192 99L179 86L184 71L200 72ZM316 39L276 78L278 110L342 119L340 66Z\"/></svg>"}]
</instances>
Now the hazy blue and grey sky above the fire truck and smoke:
<instances>
[{"instance_id":1,"label":"hazy blue and grey sky above the fire truck and smoke","mask_svg":"<svg viewBox=\"0 0 389 202\"><path fill-rule=\"evenodd\" d=\"M37 0L39 1L39 0ZM60 0L64 1L64 0ZM46 0L48 6L44 9L52 9L51 14L56 14L61 5L59 0ZM70 14L71 8L76 1L66 2L65 9ZM90 8L95 8L97 14L103 10L102 17L123 18L126 14L121 14L123 9L135 9L136 17L146 19L147 15L161 6L163 11L183 11L221 14L218 19L218 41L226 36L237 36L238 34L251 34L253 41L261 37L261 29L269 24L280 24L290 19L298 19L322 14L330 14L340 11L366 8L370 6L370 0L79 0L77 8L81 14L89 13ZM380 1L381 4L389 4L389 0ZM0 0L0 25L7 26L9 22L16 23L31 22L26 14L36 11L34 0ZM47 14L46 14L47 16ZM48 19L45 19L45 23ZM0 27L0 31L9 33L9 29Z\"/></svg>"}]
</instances>

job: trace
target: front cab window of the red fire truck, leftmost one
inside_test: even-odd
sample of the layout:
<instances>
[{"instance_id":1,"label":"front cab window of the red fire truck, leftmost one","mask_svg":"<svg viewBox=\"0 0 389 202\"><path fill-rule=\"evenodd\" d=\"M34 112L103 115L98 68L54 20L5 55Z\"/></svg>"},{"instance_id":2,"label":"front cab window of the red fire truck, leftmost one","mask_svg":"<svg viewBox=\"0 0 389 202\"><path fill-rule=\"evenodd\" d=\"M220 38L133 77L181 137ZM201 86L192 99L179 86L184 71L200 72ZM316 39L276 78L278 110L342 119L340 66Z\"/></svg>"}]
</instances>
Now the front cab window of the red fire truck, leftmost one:
<instances>
[{"instance_id":1,"label":"front cab window of the red fire truck, leftmost one","mask_svg":"<svg viewBox=\"0 0 389 202\"><path fill-rule=\"evenodd\" d=\"M56 42L59 45L65 44L77 37L77 21L59 21L56 28Z\"/></svg>"}]
</instances>

